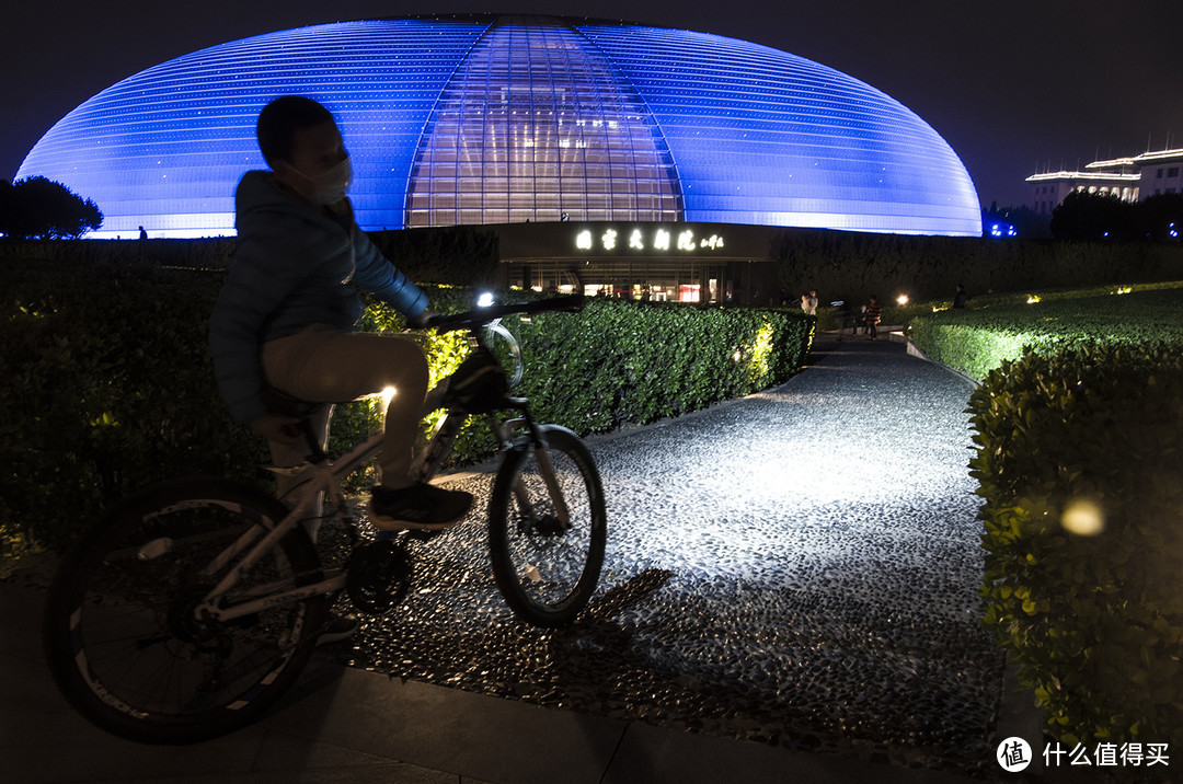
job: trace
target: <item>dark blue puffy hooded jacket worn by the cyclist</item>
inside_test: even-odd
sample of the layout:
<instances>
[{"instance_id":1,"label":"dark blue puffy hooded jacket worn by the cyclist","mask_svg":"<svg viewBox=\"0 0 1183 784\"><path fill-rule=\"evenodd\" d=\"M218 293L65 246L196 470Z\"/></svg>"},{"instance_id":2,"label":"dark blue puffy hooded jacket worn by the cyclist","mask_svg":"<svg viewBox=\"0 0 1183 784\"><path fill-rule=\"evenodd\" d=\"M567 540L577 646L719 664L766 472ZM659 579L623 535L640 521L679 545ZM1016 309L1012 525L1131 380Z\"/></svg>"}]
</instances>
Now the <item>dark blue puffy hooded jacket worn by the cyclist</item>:
<instances>
[{"instance_id":1,"label":"dark blue puffy hooded jacket worn by the cyclist","mask_svg":"<svg viewBox=\"0 0 1183 784\"><path fill-rule=\"evenodd\" d=\"M267 341L311 324L353 331L362 313L354 285L413 319L427 296L345 213L334 216L284 190L270 171L247 171L234 195L238 251L209 319L218 389L246 425L266 413L259 400Z\"/></svg>"}]
</instances>

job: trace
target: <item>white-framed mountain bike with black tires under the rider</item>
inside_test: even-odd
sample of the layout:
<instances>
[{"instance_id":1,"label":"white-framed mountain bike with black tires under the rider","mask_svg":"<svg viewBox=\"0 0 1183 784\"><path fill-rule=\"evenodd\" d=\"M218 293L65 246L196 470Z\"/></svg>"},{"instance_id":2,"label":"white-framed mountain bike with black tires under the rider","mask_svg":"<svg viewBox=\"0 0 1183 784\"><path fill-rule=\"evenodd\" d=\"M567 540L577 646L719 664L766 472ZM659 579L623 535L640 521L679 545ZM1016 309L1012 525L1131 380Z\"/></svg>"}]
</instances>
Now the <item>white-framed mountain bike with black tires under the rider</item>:
<instances>
[{"instance_id":1,"label":"white-framed mountain bike with black tires under the rider","mask_svg":"<svg viewBox=\"0 0 1183 784\"><path fill-rule=\"evenodd\" d=\"M500 370L487 343L506 338L519 377L517 343L499 319L573 310L580 299L478 309L432 326L467 330L473 356ZM599 471L571 430L538 425L529 401L509 395L504 374L500 382L485 375L493 381L484 400L446 408L418 477L438 473L470 416L489 420L500 455L489 504L497 587L522 620L564 624L590 601L603 563ZM295 683L335 597L344 592L358 610L382 613L406 595L408 538L421 534L363 537L341 486L375 455L382 434L331 460L312 438L310 409L289 401L284 412L305 417L311 452L290 505L224 478L167 481L109 510L65 555L47 597L45 649L59 689L91 723L144 743L232 732ZM515 419L503 420L506 410ZM344 566L322 565L300 525L322 492L350 537Z\"/></svg>"}]
</instances>

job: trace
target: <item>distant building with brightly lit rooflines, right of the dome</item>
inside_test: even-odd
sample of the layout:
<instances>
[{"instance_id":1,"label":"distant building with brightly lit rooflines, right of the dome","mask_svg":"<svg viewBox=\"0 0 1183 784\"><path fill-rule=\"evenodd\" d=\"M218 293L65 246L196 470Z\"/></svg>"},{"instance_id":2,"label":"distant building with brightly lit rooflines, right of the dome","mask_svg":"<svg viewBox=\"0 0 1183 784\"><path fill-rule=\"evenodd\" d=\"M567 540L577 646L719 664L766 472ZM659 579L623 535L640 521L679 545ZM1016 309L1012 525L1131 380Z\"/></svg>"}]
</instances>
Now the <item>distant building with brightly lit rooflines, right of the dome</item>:
<instances>
[{"instance_id":1,"label":"distant building with brightly lit rooflines, right of the dome","mask_svg":"<svg viewBox=\"0 0 1183 784\"><path fill-rule=\"evenodd\" d=\"M1111 193L1123 201L1139 201L1164 193L1183 193L1183 149L1143 153L1133 157L1094 161L1084 171L1048 171L1027 177L1030 206L1052 214L1069 193Z\"/></svg>"}]
</instances>

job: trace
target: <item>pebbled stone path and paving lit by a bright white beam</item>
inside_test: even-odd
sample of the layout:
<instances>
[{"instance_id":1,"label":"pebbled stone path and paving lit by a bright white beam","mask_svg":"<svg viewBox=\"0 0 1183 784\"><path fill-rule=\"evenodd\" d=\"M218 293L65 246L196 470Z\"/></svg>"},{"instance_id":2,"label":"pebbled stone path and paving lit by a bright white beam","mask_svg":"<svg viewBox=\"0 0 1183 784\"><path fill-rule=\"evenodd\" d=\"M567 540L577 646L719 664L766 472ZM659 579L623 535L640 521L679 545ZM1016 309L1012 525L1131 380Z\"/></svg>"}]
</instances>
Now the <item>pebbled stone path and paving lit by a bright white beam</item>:
<instances>
[{"instance_id":1,"label":"pebbled stone path and paving lit by a bright white beam","mask_svg":"<svg viewBox=\"0 0 1183 784\"><path fill-rule=\"evenodd\" d=\"M407 607L319 654L263 721L196 746L75 715L44 670L37 576L0 582L2 779L1001 777L998 740L1035 736L974 618L968 395L900 344L822 339L777 389L592 439L612 546L588 620L543 635L496 591L458 613L464 579L416 563Z\"/></svg>"}]
</instances>

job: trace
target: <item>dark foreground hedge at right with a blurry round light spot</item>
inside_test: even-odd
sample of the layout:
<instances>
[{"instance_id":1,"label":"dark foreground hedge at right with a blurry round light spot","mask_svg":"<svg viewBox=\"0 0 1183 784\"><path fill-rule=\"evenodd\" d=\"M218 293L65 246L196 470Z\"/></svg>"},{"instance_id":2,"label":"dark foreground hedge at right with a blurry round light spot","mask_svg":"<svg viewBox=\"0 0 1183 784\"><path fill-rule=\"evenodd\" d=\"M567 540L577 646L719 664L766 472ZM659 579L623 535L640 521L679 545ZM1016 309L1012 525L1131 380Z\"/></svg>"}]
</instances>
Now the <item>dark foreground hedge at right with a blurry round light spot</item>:
<instances>
[{"instance_id":1,"label":"dark foreground hedge at right with a blurry round light spot","mask_svg":"<svg viewBox=\"0 0 1183 784\"><path fill-rule=\"evenodd\" d=\"M1183 358L1027 350L970 399L984 623L1068 743L1183 739Z\"/></svg>"}]
</instances>

